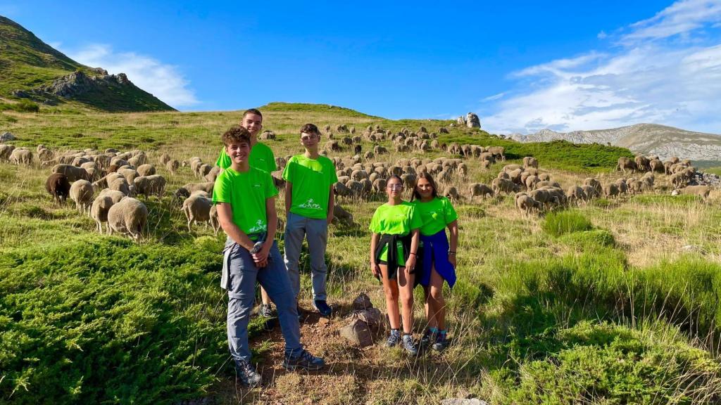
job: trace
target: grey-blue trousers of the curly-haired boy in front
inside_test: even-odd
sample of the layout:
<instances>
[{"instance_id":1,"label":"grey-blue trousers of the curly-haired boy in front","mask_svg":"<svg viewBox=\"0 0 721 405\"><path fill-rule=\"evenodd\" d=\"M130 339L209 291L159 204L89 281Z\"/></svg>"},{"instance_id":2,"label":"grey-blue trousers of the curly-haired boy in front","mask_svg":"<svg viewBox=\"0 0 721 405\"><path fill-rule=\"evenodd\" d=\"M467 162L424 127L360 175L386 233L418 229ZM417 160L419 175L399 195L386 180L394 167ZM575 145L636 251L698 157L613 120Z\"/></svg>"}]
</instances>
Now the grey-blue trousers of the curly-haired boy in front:
<instances>
[{"instance_id":1,"label":"grey-blue trousers of the curly-haired boy in front","mask_svg":"<svg viewBox=\"0 0 721 405\"><path fill-rule=\"evenodd\" d=\"M250 361L248 347L248 321L255 301L255 281L260 282L278 308L278 320L286 355L295 357L303 350L298 310L288 272L280 256L278 244L273 241L266 267L255 267L250 252L230 238L223 249L224 277L228 290L228 347L236 360Z\"/></svg>"}]
</instances>

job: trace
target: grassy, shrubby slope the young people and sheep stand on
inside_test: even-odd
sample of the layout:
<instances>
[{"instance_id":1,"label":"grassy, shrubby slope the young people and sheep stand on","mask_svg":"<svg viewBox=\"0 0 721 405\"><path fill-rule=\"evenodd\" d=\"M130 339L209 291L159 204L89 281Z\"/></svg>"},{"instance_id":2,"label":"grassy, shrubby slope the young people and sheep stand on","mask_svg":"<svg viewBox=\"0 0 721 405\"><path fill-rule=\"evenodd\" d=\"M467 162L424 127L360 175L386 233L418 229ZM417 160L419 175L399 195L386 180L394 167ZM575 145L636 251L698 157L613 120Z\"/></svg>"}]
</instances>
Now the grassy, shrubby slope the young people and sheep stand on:
<instances>
[{"instance_id":1,"label":"grassy, shrubby slope the young people and sheep stand on","mask_svg":"<svg viewBox=\"0 0 721 405\"><path fill-rule=\"evenodd\" d=\"M288 107L288 108L285 108ZM391 121L313 104L262 108L276 156L299 153L304 123L436 131L449 121ZM214 161L219 135L240 112L73 114L0 112L0 131L16 145L142 148L169 190L197 182L185 167L172 176L157 162L200 156ZM451 128L444 142L505 146L508 163L524 153L563 187L592 175L602 182L628 151L565 143L526 144L479 130ZM363 143L363 149L371 148ZM386 143L389 146L389 143ZM521 148L523 146L523 148ZM528 148L528 149L524 149ZM330 156L347 156L348 149ZM391 153L384 160L412 156ZM441 151L423 157L446 156ZM614 158L615 156L615 158ZM469 160L452 184L489 182ZM593 172L593 174L589 174ZM721 192L709 202L652 194L594 200L526 216L512 197L467 199L459 213L459 282L446 288L451 347L417 359L381 343L348 345L337 330L361 292L385 312L382 288L368 270L368 223L383 197L340 200L356 226L331 226L329 302L338 316L309 316L301 329L323 373L286 373L278 328L252 326L264 378L260 389L234 384L225 336L226 295L218 287L223 235L187 231L170 195L146 199L143 241L100 236L72 205L44 190L48 169L0 163L0 399L14 404L438 404L477 397L491 404L715 404L721 362ZM283 215L283 193L278 199ZM278 235L282 249L282 237ZM311 307L307 255L301 306ZM423 329L416 291L415 328Z\"/></svg>"}]
</instances>

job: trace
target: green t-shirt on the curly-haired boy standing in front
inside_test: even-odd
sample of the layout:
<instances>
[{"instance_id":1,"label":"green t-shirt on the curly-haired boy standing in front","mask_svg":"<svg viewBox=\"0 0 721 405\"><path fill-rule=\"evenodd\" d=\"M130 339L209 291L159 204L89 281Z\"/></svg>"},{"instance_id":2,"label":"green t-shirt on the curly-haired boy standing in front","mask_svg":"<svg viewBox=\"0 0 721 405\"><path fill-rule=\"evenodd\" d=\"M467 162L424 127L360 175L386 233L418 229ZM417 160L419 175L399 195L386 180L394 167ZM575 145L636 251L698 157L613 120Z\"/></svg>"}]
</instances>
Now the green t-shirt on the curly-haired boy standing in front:
<instances>
[{"instance_id":1,"label":"green t-shirt on the curly-haired boy standing in front","mask_svg":"<svg viewBox=\"0 0 721 405\"><path fill-rule=\"evenodd\" d=\"M247 172L236 172L230 167L216 179L213 186L213 204L229 203L233 222L246 234L267 231L265 200L278 195L270 174L251 167Z\"/></svg>"}]
</instances>

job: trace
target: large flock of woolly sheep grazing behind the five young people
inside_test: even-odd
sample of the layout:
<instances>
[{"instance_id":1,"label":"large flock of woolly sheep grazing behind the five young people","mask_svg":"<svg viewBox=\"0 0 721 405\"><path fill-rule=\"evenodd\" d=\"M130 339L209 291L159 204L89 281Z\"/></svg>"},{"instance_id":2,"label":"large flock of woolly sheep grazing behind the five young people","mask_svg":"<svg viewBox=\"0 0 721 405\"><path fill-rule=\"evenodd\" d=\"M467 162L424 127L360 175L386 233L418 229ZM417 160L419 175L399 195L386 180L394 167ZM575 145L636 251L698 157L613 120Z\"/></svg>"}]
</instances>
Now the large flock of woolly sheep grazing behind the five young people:
<instances>
[{"instance_id":1,"label":"large flock of woolly sheep grazing behind the five young people","mask_svg":"<svg viewBox=\"0 0 721 405\"><path fill-rule=\"evenodd\" d=\"M708 186L688 186L696 174L696 169L691 166L690 161L680 161L678 158L660 161L655 156L619 158L616 169L621 170L624 175L627 172L642 172L642 176L638 179L628 177L601 184L598 179L588 178L584 179L583 184L572 185L567 190L563 190L548 173L539 172L537 159L526 156L522 164L503 166L490 184L471 183L466 195L461 195L453 184L466 182L469 165L489 169L492 164L505 161L503 147L457 143L441 145L438 143L438 134L428 133L423 127L417 132L404 128L392 133L376 125L368 126L362 135L355 135L355 128L348 129L345 125L337 125L335 128L337 133L350 135L342 136L340 139L334 138L329 125L324 129L331 140L325 143L322 154L327 155L329 151L343 151L345 148L349 151L352 148L354 153L353 156L332 158L338 177L334 190L341 199L361 200L374 195L383 195L386 179L393 174L401 177L407 190L410 190L415 184L417 175L423 172L432 174L438 182L438 192L451 200L465 197L472 203L475 197L495 197L514 193L516 207L523 213L540 213L544 209L569 203L582 203L601 196L613 198L627 193L651 191L654 190L655 174L668 175L668 179L676 189L673 195L687 193L700 195L705 199L710 191ZM445 128L438 130L438 133L447 132ZM259 138L274 139L275 134L265 131ZM386 140L392 141L397 152L412 151L422 155L431 149L438 149L454 157L437 159L414 157L398 159L393 164L389 161L373 161L374 158L389 153L384 146L377 144ZM361 154L363 141L376 143L373 150ZM50 168L50 176L45 182L48 193L57 203L64 203L68 197L73 200L80 213L87 213L96 221L97 231L100 233L102 233L102 224L106 223L108 234L118 232L138 239L148 221L148 208L136 197L161 198L167 184L162 175L156 174L156 168L149 163L146 153L139 150L121 153L117 149L108 148L102 152L86 149L53 153L45 146L39 145L33 153L29 148L0 144L0 161L30 165L34 156L37 156L41 167ZM464 159L455 156L462 156ZM290 157L275 159L279 170L272 175L278 188L283 187L281 174ZM211 225L217 234L220 226L211 195L220 168L204 164L198 157L180 162L171 159L167 153L160 156L158 163L164 165L172 175L180 169L180 166L189 166L195 177L201 179L201 182L180 187L174 192L174 197L179 201L182 200L181 210L187 219L189 231L193 223L200 222ZM353 223L353 215L340 205L336 205L335 218L335 221L348 225Z\"/></svg>"}]
</instances>

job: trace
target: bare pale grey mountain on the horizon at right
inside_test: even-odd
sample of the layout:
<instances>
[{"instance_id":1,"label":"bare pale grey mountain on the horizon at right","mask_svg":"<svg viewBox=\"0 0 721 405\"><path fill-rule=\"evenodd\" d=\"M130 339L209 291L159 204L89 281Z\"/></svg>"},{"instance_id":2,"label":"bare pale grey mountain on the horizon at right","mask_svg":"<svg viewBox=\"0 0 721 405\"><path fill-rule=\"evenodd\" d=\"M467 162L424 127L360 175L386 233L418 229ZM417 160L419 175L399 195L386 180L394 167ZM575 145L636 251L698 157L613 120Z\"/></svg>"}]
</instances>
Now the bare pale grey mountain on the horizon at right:
<instances>
[{"instance_id":1,"label":"bare pale grey mountain on the horizon at right","mask_svg":"<svg viewBox=\"0 0 721 405\"><path fill-rule=\"evenodd\" d=\"M628 148L635 153L658 155L661 159L679 156L691 160L721 161L721 135L656 124L636 124L607 130L577 130L569 133L539 130L531 135L514 133L509 138L519 142L564 140L572 143L611 144Z\"/></svg>"}]
</instances>

